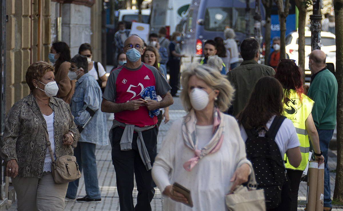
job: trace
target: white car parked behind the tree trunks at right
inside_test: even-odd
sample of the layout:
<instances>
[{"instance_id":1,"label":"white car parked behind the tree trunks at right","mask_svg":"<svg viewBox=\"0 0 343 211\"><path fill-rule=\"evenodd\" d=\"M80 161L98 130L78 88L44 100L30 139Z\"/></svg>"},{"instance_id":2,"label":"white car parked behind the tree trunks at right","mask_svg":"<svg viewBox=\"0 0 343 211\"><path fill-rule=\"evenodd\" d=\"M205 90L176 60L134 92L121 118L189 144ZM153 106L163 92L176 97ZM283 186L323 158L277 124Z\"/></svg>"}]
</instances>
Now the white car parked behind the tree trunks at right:
<instances>
[{"instance_id":1,"label":"white car parked behind the tree trunks at right","mask_svg":"<svg viewBox=\"0 0 343 211\"><path fill-rule=\"evenodd\" d=\"M321 50L326 54L326 62L333 63L336 69L336 36L330 32L321 32ZM294 59L298 63L298 32L289 33L286 38L286 53L289 59ZM308 68L308 57L311 53L311 32L305 31L305 74L307 79L311 75Z\"/></svg>"}]
</instances>

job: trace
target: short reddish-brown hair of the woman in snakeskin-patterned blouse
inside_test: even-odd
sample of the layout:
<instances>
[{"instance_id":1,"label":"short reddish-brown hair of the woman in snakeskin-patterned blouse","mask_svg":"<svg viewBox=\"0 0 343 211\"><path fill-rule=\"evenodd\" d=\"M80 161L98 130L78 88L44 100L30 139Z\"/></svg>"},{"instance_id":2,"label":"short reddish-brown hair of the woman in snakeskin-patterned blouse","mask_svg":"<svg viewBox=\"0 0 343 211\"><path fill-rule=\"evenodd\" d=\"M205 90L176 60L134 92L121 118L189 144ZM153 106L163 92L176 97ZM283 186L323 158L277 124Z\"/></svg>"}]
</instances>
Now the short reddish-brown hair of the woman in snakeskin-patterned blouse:
<instances>
[{"instance_id":1,"label":"short reddish-brown hair of the woman in snakeskin-patterned blouse","mask_svg":"<svg viewBox=\"0 0 343 211\"><path fill-rule=\"evenodd\" d=\"M40 80L48 71L55 72L55 67L44 61L32 63L26 71L25 79L30 90L34 90L33 79Z\"/></svg>"}]
</instances>

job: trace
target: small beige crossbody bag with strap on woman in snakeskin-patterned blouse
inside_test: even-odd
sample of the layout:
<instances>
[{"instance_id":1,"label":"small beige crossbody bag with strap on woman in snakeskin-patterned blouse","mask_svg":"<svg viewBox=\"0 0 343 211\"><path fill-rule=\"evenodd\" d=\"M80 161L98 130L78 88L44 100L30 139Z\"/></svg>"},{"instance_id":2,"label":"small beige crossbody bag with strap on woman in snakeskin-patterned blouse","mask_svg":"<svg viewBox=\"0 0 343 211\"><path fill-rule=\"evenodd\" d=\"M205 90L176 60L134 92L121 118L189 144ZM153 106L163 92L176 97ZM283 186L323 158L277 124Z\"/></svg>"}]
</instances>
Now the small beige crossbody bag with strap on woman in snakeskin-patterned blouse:
<instances>
[{"instance_id":1,"label":"small beige crossbody bag with strap on woman in snakeskin-patterned blouse","mask_svg":"<svg viewBox=\"0 0 343 211\"><path fill-rule=\"evenodd\" d=\"M56 184L73 182L81 177L81 172L79 170L79 164L76 162L75 156L65 155L58 157L56 161L54 160L54 155L52 154L51 143L49 141L49 135L46 130L45 138L46 143L50 152L51 157L51 173L54 177Z\"/></svg>"}]
</instances>

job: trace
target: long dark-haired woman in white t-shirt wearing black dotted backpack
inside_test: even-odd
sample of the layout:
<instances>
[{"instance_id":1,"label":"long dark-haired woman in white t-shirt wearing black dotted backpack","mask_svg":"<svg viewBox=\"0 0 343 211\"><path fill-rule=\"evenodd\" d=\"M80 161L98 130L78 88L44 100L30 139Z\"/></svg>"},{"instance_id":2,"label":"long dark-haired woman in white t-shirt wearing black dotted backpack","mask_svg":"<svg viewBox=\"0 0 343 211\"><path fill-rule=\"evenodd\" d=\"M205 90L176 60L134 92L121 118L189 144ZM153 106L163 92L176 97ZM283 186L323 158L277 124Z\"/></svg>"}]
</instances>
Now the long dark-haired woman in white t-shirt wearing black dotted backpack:
<instances>
[{"instance_id":1,"label":"long dark-haired woman in white t-shirt wearing black dotted backpack","mask_svg":"<svg viewBox=\"0 0 343 211\"><path fill-rule=\"evenodd\" d=\"M286 153L294 167L301 162L295 127L282 116L283 96L278 80L263 77L256 83L245 109L237 116L247 159L255 170L258 189L264 189L269 211L291 209L291 189L283 155Z\"/></svg>"}]
</instances>

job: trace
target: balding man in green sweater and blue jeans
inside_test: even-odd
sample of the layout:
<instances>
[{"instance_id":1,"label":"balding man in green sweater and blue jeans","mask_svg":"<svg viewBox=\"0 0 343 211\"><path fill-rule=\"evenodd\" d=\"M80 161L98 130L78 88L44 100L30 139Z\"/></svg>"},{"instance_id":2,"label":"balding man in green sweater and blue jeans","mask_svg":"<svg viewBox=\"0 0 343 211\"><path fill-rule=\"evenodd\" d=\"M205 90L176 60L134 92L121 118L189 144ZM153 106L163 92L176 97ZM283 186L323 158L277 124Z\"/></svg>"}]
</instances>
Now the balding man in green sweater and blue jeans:
<instances>
[{"instance_id":1,"label":"balding man in green sweater and blue jeans","mask_svg":"<svg viewBox=\"0 0 343 211\"><path fill-rule=\"evenodd\" d=\"M338 84L335 76L326 68L325 60L326 55L323 51L314 50L311 52L308 65L312 75L311 85L307 95L315 101L312 109L312 117L318 131L320 149L325 161L324 211L329 211L332 205L328 149L336 126Z\"/></svg>"}]
</instances>

